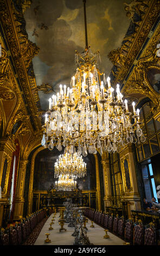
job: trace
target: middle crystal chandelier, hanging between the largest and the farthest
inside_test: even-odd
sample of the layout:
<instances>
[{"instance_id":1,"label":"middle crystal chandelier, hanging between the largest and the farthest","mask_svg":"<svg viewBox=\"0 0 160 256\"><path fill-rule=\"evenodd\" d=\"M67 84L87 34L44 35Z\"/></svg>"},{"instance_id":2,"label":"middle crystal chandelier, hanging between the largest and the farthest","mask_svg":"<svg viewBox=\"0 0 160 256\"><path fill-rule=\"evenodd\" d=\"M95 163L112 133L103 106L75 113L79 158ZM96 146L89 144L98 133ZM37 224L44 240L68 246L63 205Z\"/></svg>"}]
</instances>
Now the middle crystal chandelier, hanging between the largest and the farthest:
<instances>
[{"instance_id":1,"label":"middle crystal chandelier, hanging between the largest and the farthest","mask_svg":"<svg viewBox=\"0 0 160 256\"><path fill-rule=\"evenodd\" d=\"M55 162L54 178L60 175L68 175L69 178L82 178L87 174L86 163L82 160L82 156L77 153L60 155Z\"/></svg>"}]
</instances>

